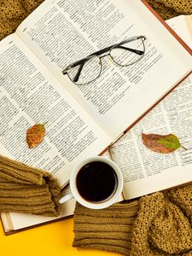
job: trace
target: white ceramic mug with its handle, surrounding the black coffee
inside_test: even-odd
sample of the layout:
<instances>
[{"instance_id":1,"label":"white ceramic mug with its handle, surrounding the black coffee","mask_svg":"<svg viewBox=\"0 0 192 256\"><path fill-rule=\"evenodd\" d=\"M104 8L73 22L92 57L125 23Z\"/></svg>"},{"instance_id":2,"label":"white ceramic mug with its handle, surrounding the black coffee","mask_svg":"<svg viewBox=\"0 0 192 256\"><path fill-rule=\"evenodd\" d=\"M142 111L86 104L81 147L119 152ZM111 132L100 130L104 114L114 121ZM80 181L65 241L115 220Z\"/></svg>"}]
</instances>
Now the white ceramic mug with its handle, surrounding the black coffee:
<instances>
[{"instance_id":1,"label":"white ceramic mug with its handle, surrounding the black coffee","mask_svg":"<svg viewBox=\"0 0 192 256\"><path fill-rule=\"evenodd\" d=\"M81 168L83 168L85 165L87 165L89 163L97 162L97 161L103 162L103 163L107 164L108 166L112 167L113 172L116 177L115 178L115 186L113 189L113 193L110 196L108 196L107 199L104 199L102 201L87 201L79 193L79 190L77 187L77 176L78 176L78 173L81 170ZM109 160L108 158L102 157L102 156L90 157L90 158L87 158L87 159L83 160L82 162L80 162L79 165L73 169L69 183L70 183L71 193L64 195L61 198L60 203L62 204L74 197L75 200L78 201L81 205L83 205L84 207L91 208L91 209L102 209L102 208L111 206L113 203L118 201L119 196L121 195L121 192L123 189L123 177L122 177L122 173L120 172L119 166L117 166L112 160Z\"/></svg>"}]
</instances>

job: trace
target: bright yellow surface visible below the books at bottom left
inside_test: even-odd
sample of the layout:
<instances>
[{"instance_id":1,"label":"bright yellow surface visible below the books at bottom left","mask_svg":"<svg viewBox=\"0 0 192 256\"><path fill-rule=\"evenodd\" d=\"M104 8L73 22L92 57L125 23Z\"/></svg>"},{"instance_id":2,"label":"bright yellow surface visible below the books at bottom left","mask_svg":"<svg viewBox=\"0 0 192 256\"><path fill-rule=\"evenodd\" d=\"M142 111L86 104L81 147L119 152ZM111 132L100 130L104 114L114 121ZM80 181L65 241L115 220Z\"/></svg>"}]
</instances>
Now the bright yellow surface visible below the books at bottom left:
<instances>
[{"instance_id":1,"label":"bright yellow surface visible below the books at bottom left","mask_svg":"<svg viewBox=\"0 0 192 256\"><path fill-rule=\"evenodd\" d=\"M117 253L72 247L73 218L5 236L0 224L0 252L8 256L117 256Z\"/></svg>"}]
</instances>

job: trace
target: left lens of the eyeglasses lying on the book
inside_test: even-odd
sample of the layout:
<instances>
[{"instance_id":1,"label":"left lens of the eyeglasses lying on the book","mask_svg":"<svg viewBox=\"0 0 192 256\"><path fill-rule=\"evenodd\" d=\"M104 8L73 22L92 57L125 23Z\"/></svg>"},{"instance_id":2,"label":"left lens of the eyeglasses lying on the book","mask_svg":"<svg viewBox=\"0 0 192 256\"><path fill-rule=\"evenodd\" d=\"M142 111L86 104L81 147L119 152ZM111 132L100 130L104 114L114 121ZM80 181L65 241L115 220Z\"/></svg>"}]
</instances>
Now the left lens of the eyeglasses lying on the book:
<instances>
[{"instance_id":1,"label":"left lens of the eyeglasses lying on the book","mask_svg":"<svg viewBox=\"0 0 192 256\"><path fill-rule=\"evenodd\" d=\"M77 66L70 68L67 74L74 84L87 84L98 78L101 70L100 58L96 55L92 55Z\"/></svg>"}]
</instances>

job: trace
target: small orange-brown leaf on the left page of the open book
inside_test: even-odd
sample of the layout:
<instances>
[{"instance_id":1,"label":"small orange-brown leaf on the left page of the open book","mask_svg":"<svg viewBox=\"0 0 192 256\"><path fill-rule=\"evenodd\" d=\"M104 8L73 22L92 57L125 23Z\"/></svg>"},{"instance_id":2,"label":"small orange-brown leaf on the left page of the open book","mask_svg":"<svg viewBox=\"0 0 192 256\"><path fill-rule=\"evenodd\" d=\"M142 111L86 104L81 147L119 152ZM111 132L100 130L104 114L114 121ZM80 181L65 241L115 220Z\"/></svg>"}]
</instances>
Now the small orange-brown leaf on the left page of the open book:
<instances>
[{"instance_id":1,"label":"small orange-brown leaf on the left page of the open book","mask_svg":"<svg viewBox=\"0 0 192 256\"><path fill-rule=\"evenodd\" d=\"M26 143L29 148L35 148L44 140L45 128L44 124L36 124L26 131Z\"/></svg>"}]
</instances>

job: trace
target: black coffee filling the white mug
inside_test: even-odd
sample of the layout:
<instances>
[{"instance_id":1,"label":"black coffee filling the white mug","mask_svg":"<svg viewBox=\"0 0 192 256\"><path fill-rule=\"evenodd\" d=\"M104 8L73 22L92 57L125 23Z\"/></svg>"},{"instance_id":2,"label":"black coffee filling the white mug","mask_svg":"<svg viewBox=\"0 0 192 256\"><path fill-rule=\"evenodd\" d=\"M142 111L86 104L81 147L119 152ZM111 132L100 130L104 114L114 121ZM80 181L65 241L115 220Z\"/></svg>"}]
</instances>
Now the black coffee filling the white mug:
<instances>
[{"instance_id":1,"label":"black coffee filling the white mug","mask_svg":"<svg viewBox=\"0 0 192 256\"><path fill-rule=\"evenodd\" d=\"M113 195L117 186L117 176L111 166L95 161L83 166L77 175L79 194L86 201L103 201Z\"/></svg>"}]
</instances>

